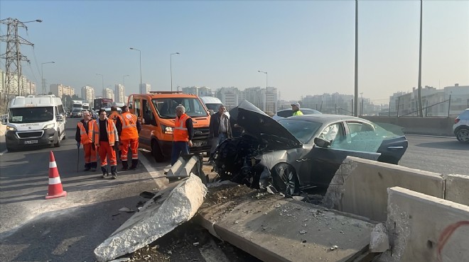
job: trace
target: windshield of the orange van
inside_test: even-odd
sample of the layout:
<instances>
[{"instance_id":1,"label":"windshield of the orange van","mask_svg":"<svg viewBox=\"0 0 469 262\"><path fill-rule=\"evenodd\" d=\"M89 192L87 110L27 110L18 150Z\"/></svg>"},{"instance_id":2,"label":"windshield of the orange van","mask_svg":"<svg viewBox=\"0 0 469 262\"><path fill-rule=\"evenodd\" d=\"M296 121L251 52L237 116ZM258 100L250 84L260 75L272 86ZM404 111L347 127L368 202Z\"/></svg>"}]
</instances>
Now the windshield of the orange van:
<instances>
[{"instance_id":1,"label":"windshield of the orange van","mask_svg":"<svg viewBox=\"0 0 469 262\"><path fill-rule=\"evenodd\" d=\"M160 118L173 119L176 118L176 106L183 105L185 113L191 118L205 117L207 111L197 98L153 98L151 99L153 106Z\"/></svg>"}]
</instances>

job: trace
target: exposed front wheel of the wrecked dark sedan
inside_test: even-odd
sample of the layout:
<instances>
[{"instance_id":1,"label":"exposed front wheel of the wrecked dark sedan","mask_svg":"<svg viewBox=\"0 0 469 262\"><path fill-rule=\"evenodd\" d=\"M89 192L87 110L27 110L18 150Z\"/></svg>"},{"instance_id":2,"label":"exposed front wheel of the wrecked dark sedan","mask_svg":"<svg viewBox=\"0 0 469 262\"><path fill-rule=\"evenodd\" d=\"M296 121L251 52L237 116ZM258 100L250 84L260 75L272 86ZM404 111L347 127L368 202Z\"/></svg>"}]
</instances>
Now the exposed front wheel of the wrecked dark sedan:
<instances>
[{"instance_id":1,"label":"exposed front wheel of the wrecked dark sedan","mask_svg":"<svg viewBox=\"0 0 469 262\"><path fill-rule=\"evenodd\" d=\"M294 195L300 191L300 183L293 166L281 163L272 169L272 183L275 189L285 195Z\"/></svg>"}]
</instances>

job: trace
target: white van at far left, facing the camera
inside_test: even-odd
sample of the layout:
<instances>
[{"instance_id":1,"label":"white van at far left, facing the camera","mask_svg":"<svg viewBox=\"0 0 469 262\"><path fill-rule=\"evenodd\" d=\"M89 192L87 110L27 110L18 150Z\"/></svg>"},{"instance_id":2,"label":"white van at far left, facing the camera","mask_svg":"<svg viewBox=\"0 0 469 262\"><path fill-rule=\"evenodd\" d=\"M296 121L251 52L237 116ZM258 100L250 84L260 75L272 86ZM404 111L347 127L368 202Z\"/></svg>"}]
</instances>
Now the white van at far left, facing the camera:
<instances>
[{"instance_id":1,"label":"white van at far left, facing the camera","mask_svg":"<svg viewBox=\"0 0 469 262\"><path fill-rule=\"evenodd\" d=\"M62 101L50 96L16 96L11 99L6 125L5 142L9 152L53 144L60 147L65 139L65 111Z\"/></svg>"}]
</instances>

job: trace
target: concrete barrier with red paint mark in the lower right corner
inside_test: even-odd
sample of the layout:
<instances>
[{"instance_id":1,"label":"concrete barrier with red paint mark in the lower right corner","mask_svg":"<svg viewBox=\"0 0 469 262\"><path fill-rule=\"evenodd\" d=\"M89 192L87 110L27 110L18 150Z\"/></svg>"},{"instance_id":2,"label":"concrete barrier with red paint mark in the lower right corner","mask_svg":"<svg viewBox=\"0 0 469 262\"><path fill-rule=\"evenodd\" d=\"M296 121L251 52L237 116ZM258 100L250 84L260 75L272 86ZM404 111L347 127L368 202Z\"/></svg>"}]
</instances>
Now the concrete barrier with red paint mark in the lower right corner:
<instances>
[{"instance_id":1,"label":"concrete barrier with red paint mark in the lower right corner","mask_svg":"<svg viewBox=\"0 0 469 262\"><path fill-rule=\"evenodd\" d=\"M405 188L388 190L391 249L378 261L468 261L469 207Z\"/></svg>"}]
</instances>

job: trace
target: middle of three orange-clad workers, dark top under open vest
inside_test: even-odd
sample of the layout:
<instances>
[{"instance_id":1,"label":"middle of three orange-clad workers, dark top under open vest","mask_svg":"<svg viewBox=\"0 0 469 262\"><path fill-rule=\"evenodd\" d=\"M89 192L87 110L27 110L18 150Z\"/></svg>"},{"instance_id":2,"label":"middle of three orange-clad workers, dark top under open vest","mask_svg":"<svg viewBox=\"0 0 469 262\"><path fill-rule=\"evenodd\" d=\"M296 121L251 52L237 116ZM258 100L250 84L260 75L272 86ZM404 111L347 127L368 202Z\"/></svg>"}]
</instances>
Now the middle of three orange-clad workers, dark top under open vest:
<instances>
[{"instance_id":1,"label":"middle of three orange-clad workers, dark top under open vest","mask_svg":"<svg viewBox=\"0 0 469 262\"><path fill-rule=\"evenodd\" d=\"M119 148L119 137L117 135L116 125L107 118L106 110L99 110L99 119L95 121L92 136L92 147L97 148L99 159L101 159L102 178L109 176L107 171L107 159L111 166L113 179L117 179L117 159L116 150Z\"/></svg>"}]
</instances>

